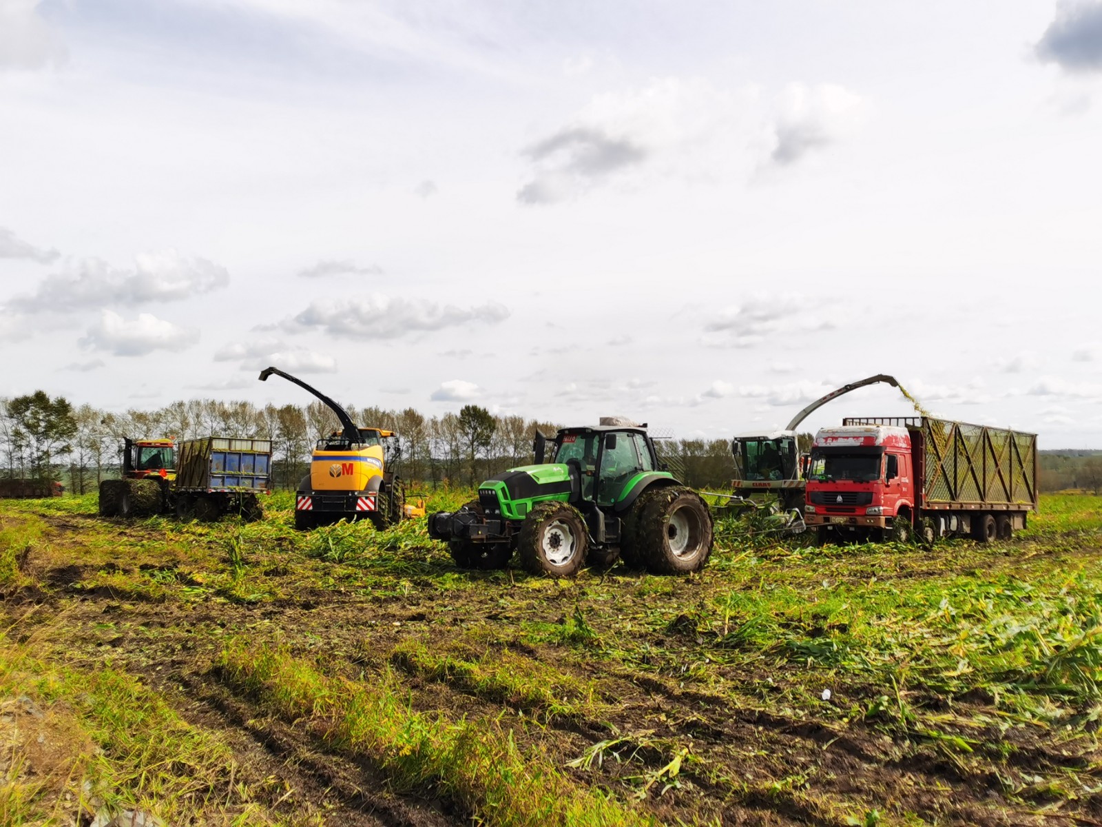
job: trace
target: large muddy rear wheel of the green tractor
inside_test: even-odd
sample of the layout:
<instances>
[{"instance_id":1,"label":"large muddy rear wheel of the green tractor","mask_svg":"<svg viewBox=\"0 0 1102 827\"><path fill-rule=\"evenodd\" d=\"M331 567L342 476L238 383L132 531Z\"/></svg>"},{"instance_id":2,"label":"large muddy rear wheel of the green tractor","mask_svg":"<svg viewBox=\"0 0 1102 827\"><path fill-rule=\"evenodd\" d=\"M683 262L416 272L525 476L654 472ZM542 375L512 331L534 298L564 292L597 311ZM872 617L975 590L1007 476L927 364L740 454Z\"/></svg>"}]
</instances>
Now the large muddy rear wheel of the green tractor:
<instances>
[{"instance_id":1,"label":"large muddy rear wheel of the green tractor","mask_svg":"<svg viewBox=\"0 0 1102 827\"><path fill-rule=\"evenodd\" d=\"M635 541L647 570L656 574L700 571L712 554L712 514L700 495L683 485L645 493Z\"/></svg>"}]
</instances>

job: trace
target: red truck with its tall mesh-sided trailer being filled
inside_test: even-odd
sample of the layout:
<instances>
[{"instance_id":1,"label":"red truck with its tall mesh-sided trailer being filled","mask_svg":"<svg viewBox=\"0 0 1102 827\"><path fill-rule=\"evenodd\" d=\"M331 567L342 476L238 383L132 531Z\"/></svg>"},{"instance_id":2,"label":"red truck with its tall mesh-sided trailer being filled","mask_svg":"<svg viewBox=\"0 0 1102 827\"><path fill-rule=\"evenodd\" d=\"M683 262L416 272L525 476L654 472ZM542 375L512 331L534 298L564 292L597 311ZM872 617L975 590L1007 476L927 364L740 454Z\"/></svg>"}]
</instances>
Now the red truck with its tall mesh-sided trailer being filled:
<instances>
[{"instance_id":1,"label":"red truck with its tall mesh-sided trailer being filled","mask_svg":"<svg viewBox=\"0 0 1102 827\"><path fill-rule=\"evenodd\" d=\"M1037 511L1037 434L933 417L822 428L803 519L819 538L1006 539Z\"/></svg>"}]
</instances>

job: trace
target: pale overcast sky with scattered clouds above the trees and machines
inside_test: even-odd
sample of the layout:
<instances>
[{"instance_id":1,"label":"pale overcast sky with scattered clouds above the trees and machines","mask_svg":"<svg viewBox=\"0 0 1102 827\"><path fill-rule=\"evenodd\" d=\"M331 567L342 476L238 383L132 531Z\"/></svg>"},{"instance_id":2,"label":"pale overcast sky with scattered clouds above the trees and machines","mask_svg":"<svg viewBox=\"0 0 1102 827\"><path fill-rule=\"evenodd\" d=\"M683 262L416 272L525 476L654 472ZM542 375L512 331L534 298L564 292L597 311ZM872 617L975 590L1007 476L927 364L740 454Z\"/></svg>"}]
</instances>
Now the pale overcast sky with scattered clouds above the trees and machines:
<instances>
[{"instance_id":1,"label":"pale overcast sky with scattered clouds above the trees and machines","mask_svg":"<svg viewBox=\"0 0 1102 827\"><path fill-rule=\"evenodd\" d=\"M0 396L1102 449L1100 147L1102 0L0 0Z\"/></svg>"}]
</instances>

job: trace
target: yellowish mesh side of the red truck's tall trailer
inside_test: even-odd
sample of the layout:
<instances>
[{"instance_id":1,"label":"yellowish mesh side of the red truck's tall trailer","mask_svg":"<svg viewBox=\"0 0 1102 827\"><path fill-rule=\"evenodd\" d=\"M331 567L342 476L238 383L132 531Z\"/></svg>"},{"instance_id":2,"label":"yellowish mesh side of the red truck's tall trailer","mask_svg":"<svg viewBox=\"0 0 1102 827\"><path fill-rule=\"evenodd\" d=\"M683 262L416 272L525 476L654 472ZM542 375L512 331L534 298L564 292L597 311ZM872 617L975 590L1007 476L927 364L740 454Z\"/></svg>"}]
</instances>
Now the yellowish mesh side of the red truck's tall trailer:
<instances>
[{"instance_id":1,"label":"yellowish mesh side of the red truck's tall trailer","mask_svg":"<svg viewBox=\"0 0 1102 827\"><path fill-rule=\"evenodd\" d=\"M1037 508L1037 434L922 417L847 418L843 425L904 425L923 450L927 505ZM916 431L918 433L916 433Z\"/></svg>"}]
</instances>

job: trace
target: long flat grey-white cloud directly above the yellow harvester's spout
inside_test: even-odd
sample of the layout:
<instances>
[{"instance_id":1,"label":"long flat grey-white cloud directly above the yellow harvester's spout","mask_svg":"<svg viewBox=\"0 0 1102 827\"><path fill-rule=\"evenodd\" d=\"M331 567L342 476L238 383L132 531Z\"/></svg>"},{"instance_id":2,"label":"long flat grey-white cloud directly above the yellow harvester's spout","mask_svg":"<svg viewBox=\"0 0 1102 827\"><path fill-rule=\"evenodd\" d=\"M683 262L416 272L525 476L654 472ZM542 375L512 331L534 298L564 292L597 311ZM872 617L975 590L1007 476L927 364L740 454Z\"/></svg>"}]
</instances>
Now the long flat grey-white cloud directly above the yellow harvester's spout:
<instances>
[{"instance_id":1,"label":"long flat grey-white cloud directly above the yellow harvester's spout","mask_svg":"<svg viewBox=\"0 0 1102 827\"><path fill-rule=\"evenodd\" d=\"M283 326L290 331L320 330L346 339L386 340L400 339L410 333L440 331L467 322L496 324L508 316L508 309L497 302L457 308L454 304L441 307L430 301L375 294L360 299L313 302L293 319L283 322Z\"/></svg>"}]
</instances>

